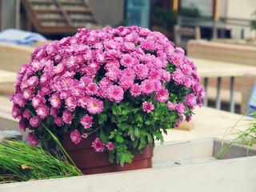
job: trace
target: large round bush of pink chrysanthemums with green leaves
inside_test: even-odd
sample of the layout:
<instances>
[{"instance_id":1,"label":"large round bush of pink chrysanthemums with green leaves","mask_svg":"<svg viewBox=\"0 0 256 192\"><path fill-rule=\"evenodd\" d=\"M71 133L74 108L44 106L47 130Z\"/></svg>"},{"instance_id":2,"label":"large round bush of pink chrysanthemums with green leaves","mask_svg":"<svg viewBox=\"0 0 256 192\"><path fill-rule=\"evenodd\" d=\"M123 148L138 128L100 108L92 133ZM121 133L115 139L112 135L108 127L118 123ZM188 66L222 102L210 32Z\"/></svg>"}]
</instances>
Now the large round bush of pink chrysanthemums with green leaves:
<instances>
[{"instance_id":1,"label":"large round bush of pink chrysanthemums with green leaves","mask_svg":"<svg viewBox=\"0 0 256 192\"><path fill-rule=\"evenodd\" d=\"M194 63L163 34L138 26L78 29L73 37L34 50L18 72L12 114L32 145L70 134L93 135L110 162L163 142L166 129L190 121L205 90ZM91 135L90 135L91 134Z\"/></svg>"}]
</instances>

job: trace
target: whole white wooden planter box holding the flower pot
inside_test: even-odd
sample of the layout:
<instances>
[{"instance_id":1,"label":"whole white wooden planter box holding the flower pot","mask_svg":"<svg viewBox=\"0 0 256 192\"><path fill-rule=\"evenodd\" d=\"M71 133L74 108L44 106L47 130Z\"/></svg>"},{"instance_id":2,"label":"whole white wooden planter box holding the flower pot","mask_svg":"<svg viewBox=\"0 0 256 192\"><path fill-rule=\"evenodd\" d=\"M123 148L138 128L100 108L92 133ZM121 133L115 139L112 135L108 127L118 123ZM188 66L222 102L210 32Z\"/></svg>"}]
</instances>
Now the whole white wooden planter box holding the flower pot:
<instances>
[{"instance_id":1,"label":"whole white wooden planter box holding the flower pot","mask_svg":"<svg viewBox=\"0 0 256 192\"><path fill-rule=\"evenodd\" d=\"M215 160L221 145L213 138L167 142L155 147L151 169L0 184L0 191L256 191L256 156L233 146L226 159Z\"/></svg>"}]
</instances>

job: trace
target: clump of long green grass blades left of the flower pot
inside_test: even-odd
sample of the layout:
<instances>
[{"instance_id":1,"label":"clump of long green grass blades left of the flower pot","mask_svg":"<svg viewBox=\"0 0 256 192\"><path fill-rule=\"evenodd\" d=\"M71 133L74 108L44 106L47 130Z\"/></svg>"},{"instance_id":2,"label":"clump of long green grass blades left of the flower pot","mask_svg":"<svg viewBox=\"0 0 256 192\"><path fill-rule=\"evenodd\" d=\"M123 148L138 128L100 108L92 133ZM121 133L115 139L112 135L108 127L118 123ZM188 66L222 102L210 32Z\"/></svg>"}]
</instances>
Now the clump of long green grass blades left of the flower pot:
<instances>
[{"instance_id":1,"label":"clump of long green grass blades left of the flower pot","mask_svg":"<svg viewBox=\"0 0 256 192\"><path fill-rule=\"evenodd\" d=\"M56 152L21 141L0 142L0 183L78 175L82 175L80 170Z\"/></svg>"}]
</instances>

